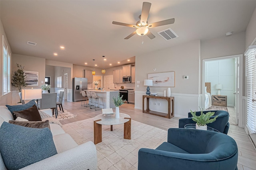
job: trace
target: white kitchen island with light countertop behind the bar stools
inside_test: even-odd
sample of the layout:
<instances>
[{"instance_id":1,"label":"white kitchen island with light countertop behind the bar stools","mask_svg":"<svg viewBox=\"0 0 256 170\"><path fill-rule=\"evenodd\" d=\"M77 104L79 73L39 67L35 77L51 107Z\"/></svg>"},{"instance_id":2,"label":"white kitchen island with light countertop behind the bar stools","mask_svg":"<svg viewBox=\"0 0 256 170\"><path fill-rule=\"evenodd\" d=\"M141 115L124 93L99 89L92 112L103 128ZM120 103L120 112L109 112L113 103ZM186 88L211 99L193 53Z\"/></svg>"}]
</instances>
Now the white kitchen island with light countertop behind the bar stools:
<instances>
[{"instance_id":1,"label":"white kitchen island with light countertop behind the bar stools","mask_svg":"<svg viewBox=\"0 0 256 170\"><path fill-rule=\"evenodd\" d=\"M103 98L103 103L104 103L104 109L109 109L109 108L115 108L115 104L112 100L113 97L118 97L119 95L119 90L84 90L89 91L89 92L95 92L96 96L98 97L102 97ZM99 100L100 104L102 102L102 100ZM103 106L100 105L101 108L103 108Z\"/></svg>"}]
</instances>

